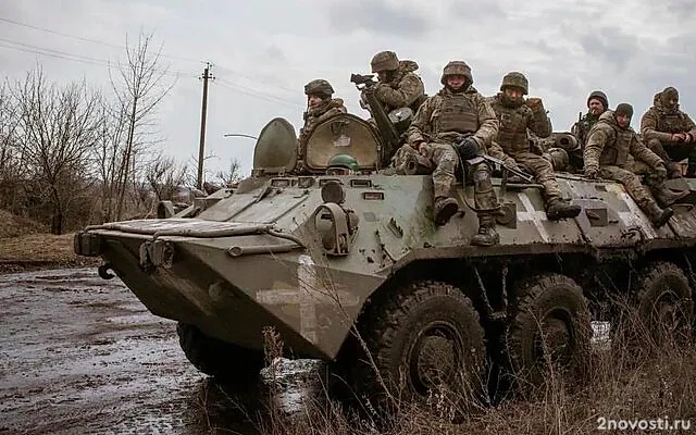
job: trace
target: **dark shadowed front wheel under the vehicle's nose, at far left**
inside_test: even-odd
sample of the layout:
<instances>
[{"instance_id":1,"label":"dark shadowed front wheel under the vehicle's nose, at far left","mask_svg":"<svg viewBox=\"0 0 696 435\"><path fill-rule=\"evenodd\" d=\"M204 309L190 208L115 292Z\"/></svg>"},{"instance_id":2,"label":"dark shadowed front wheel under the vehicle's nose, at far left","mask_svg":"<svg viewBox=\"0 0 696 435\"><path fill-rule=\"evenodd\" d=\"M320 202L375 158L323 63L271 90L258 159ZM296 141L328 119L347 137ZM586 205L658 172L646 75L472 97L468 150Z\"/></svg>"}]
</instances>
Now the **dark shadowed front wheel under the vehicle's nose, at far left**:
<instances>
[{"instance_id":1,"label":"dark shadowed front wheel under the vehicle's nose, at far left","mask_svg":"<svg viewBox=\"0 0 696 435\"><path fill-rule=\"evenodd\" d=\"M176 333L196 369L224 383L253 383L263 368L263 353L210 337L194 325L179 322Z\"/></svg>"}]
</instances>

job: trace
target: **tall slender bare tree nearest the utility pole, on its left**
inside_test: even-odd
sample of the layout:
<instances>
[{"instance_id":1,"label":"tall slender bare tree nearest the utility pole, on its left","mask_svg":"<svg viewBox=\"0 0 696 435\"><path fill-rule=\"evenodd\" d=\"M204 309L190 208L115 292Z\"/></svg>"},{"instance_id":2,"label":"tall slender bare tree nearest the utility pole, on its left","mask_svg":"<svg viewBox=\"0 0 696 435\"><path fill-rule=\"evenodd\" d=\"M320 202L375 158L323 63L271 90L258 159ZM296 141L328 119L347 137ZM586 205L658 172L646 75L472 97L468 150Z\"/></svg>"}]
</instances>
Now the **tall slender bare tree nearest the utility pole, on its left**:
<instances>
[{"instance_id":1,"label":"tall slender bare tree nearest the utility pole, on its left","mask_svg":"<svg viewBox=\"0 0 696 435\"><path fill-rule=\"evenodd\" d=\"M117 98L112 115L117 122L125 122L122 130L116 128L123 134L123 141L117 142L120 149L109 152L116 159L111 164L115 173L115 219L122 216L128 183L132 182L134 187L137 185L136 157L147 153L148 146L157 141L153 130L156 108L176 83L176 79L169 85L163 83L169 66L160 66L162 46L151 52L152 38L152 34L140 32L137 45L132 47L126 37L126 61L119 63L119 83L110 71Z\"/></svg>"}]
</instances>

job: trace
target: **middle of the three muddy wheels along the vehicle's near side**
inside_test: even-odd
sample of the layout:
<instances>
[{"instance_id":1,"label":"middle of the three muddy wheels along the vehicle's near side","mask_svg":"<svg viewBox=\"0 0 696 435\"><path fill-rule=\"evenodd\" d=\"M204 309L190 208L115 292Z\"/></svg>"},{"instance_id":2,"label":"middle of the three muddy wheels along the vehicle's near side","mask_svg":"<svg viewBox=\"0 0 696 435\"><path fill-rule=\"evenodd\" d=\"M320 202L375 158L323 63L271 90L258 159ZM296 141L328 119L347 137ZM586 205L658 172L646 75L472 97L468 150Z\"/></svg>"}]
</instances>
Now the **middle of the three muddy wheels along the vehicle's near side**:
<instances>
[{"instance_id":1,"label":"middle of the three muddy wheels along the vehicle's near side","mask_svg":"<svg viewBox=\"0 0 696 435\"><path fill-rule=\"evenodd\" d=\"M532 277L517 291L507 351L522 390L542 385L546 373L576 375L589 358L592 316L582 288L564 275Z\"/></svg>"}]
</instances>

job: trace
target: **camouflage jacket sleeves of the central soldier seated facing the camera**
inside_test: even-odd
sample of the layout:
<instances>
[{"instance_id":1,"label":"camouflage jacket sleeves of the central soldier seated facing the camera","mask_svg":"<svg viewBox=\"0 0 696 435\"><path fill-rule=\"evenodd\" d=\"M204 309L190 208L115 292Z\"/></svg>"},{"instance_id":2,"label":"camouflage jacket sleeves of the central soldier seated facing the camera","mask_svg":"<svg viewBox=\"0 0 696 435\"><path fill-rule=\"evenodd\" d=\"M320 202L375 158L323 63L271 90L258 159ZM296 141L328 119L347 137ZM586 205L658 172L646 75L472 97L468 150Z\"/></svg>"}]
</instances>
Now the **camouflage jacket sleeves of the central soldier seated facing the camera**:
<instances>
[{"instance_id":1,"label":"camouflage jacket sleeves of the central soldier seated facing the camera","mask_svg":"<svg viewBox=\"0 0 696 435\"><path fill-rule=\"evenodd\" d=\"M410 145L417 141L444 141L453 142L461 138L460 133L456 132L437 132L438 117L440 115L440 108L445 96L452 95L447 88L440 89L439 92L432 97L419 108L411 126L406 132L407 140ZM478 142L478 146L487 149L493 139L498 134L498 127L500 123L496 117L490 103L486 101L486 98L478 94L476 88L469 86L463 92L464 97L476 108L477 111L477 125L478 128L474 133L474 139Z\"/></svg>"}]
</instances>

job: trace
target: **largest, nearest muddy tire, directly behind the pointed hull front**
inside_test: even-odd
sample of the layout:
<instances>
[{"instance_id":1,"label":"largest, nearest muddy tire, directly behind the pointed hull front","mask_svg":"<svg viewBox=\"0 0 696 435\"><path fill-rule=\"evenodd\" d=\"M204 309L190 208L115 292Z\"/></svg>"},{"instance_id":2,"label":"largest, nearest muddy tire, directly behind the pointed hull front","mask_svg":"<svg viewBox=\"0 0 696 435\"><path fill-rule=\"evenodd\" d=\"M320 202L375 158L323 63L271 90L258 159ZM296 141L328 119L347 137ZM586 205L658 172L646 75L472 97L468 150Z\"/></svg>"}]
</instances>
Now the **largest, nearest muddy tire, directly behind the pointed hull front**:
<instances>
[{"instance_id":1,"label":"largest, nearest muddy tire, directly behind the pointed hull front","mask_svg":"<svg viewBox=\"0 0 696 435\"><path fill-rule=\"evenodd\" d=\"M459 415L485 390L484 331L471 300L458 288L411 284L389 295L371 320L362 334L372 358L370 364L359 364L356 387L381 412L389 414L398 405L389 397L418 405L431 393L445 393L447 406Z\"/></svg>"}]
</instances>

